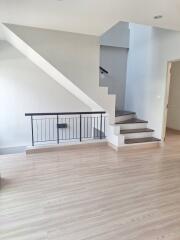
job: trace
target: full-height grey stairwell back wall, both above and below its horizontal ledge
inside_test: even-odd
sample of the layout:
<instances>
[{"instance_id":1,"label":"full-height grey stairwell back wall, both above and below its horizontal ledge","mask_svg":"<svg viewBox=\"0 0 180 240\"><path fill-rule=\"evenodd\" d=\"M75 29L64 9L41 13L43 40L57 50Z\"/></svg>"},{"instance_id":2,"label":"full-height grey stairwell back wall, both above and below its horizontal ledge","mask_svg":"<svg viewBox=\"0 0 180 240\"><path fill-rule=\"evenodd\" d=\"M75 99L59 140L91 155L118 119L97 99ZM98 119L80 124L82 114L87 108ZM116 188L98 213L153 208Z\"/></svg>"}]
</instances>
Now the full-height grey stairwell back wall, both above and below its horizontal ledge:
<instances>
[{"instance_id":1,"label":"full-height grey stairwell back wall, both above and below its horizontal ledge","mask_svg":"<svg viewBox=\"0 0 180 240\"><path fill-rule=\"evenodd\" d=\"M100 38L100 66L109 72L100 77L100 86L108 86L109 93L116 95L116 110L125 105L129 34L129 23L118 22Z\"/></svg>"}]
</instances>

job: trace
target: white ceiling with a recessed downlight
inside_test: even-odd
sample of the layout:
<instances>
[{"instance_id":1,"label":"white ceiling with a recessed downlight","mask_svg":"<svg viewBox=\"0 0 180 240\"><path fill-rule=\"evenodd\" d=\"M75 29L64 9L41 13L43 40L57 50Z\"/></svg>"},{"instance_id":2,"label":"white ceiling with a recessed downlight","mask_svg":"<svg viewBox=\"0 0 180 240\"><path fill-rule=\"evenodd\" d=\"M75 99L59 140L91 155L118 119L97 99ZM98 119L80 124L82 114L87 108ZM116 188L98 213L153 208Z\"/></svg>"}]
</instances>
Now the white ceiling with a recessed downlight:
<instances>
[{"instance_id":1,"label":"white ceiling with a recessed downlight","mask_svg":"<svg viewBox=\"0 0 180 240\"><path fill-rule=\"evenodd\" d=\"M0 0L0 22L101 35L119 21L180 30L180 0Z\"/></svg>"}]
</instances>

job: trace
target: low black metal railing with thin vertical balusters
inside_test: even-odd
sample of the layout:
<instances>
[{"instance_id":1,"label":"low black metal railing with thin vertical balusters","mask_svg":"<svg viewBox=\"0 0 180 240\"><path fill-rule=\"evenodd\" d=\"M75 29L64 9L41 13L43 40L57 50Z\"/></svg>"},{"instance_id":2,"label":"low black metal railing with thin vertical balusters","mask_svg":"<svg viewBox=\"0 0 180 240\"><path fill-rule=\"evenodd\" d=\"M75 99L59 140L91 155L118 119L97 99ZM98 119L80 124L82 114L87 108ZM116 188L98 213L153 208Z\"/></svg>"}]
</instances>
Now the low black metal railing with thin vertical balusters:
<instances>
[{"instance_id":1,"label":"low black metal railing with thin vertical balusters","mask_svg":"<svg viewBox=\"0 0 180 240\"><path fill-rule=\"evenodd\" d=\"M105 112L26 113L30 117L32 146L35 144L106 137Z\"/></svg>"}]
</instances>

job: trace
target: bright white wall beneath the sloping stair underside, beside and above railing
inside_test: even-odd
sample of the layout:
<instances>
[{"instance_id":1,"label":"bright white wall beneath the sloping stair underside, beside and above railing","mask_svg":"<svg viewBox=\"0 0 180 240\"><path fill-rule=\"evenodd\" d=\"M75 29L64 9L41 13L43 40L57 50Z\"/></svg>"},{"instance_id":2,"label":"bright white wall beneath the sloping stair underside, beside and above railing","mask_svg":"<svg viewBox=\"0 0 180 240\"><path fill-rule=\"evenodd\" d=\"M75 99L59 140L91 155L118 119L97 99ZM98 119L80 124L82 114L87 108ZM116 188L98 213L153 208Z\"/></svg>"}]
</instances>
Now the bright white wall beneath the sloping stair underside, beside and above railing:
<instances>
[{"instance_id":1,"label":"bright white wall beneath the sloping stair underside, beside and above railing","mask_svg":"<svg viewBox=\"0 0 180 240\"><path fill-rule=\"evenodd\" d=\"M31 144L25 112L89 110L15 48L0 42L0 148Z\"/></svg>"}]
</instances>

